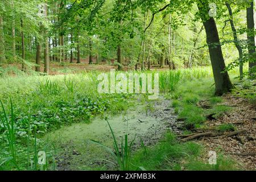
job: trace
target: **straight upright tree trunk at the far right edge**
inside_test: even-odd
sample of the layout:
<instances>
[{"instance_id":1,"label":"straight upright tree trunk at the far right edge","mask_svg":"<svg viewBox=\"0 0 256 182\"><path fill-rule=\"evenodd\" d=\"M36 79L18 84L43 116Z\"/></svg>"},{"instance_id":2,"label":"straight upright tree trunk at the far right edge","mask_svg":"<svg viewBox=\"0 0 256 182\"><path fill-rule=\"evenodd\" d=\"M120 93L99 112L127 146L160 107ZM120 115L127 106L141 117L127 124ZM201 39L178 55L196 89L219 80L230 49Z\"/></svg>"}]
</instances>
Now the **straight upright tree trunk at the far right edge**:
<instances>
[{"instance_id":1,"label":"straight upright tree trunk at the far right edge","mask_svg":"<svg viewBox=\"0 0 256 182\"><path fill-rule=\"evenodd\" d=\"M248 40L248 52L249 52L249 72L250 69L256 66L255 60L255 39L254 39L254 10L253 1L251 1L251 6L246 9L247 14L247 40Z\"/></svg>"}]
</instances>

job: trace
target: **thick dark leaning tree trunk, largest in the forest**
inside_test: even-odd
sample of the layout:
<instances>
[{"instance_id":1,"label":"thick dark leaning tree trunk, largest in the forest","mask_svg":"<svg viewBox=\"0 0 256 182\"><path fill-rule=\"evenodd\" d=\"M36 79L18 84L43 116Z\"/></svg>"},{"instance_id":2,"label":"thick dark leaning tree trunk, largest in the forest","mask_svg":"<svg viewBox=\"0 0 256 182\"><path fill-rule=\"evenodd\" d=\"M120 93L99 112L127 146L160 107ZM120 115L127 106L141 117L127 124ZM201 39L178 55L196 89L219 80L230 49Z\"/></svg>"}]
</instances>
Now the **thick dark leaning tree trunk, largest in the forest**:
<instances>
[{"instance_id":1,"label":"thick dark leaning tree trunk, largest in the forest","mask_svg":"<svg viewBox=\"0 0 256 182\"><path fill-rule=\"evenodd\" d=\"M207 44L209 48L210 61L212 63L213 77L215 82L215 94L221 96L226 92L230 92L233 85L230 81L228 72L223 72L225 69L225 61L222 55L220 38L218 36L218 30L214 18L205 17L205 10L208 10L208 3L197 2L201 19L203 20L205 32L207 34Z\"/></svg>"}]
</instances>

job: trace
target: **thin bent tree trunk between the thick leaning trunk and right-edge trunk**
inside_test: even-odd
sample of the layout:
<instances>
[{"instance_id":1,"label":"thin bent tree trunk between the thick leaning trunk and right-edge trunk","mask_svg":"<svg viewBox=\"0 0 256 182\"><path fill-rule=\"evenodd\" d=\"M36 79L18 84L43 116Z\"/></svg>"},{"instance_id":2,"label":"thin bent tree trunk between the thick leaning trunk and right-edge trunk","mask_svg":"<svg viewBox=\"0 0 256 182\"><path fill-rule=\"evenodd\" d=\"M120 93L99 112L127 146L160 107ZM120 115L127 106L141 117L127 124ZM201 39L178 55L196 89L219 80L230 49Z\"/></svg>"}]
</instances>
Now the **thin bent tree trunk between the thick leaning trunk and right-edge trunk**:
<instances>
[{"instance_id":1,"label":"thin bent tree trunk between the thick leaning trunk and right-edge trunk","mask_svg":"<svg viewBox=\"0 0 256 182\"><path fill-rule=\"evenodd\" d=\"M232 9L229 5L229 3L226 3L226 7L228 7L229 10L229 22L230 22L230 26L233 32L233 38L234 38L234 44L238 50L239 53L239 71L240 71L240 80L242 80L243 78L243 61L242 61L242 57L243 57L243 51L242 51L242 47L240 46L239 40L237 38L237 30L236 27L234 26L234 21L233 21L233 13L232 13Z\"/></svg>"}]
</instances>

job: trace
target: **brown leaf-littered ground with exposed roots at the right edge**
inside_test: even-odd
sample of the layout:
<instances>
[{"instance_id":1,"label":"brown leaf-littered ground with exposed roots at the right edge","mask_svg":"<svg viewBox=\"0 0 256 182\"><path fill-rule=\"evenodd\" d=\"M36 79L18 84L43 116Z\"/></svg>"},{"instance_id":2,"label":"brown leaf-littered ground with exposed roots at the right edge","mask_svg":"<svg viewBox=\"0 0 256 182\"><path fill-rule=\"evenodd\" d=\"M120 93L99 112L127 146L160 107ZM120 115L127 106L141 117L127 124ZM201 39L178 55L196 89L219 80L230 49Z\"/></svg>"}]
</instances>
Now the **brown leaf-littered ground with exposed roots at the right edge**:
<instances>
[{"instance_id":1,"label":"brown leaf-littered ground with exposed roots at the right edge","mask_svg":"<svg viewBox=\"0 0 256 182\"><path fill-rule=\"evenodd\" d=\"M241 162L243 168L256 169L256 108L247 100L241 97L226 94L225 105L234 109L225 113L222 117L208 120L206 125L218 126L223 124L233 124L237 130L245 129L245 133L237 136L216 138L205 137L200 140L208 150L223 151L225 155Z\"/></svg>"}]
</instances>

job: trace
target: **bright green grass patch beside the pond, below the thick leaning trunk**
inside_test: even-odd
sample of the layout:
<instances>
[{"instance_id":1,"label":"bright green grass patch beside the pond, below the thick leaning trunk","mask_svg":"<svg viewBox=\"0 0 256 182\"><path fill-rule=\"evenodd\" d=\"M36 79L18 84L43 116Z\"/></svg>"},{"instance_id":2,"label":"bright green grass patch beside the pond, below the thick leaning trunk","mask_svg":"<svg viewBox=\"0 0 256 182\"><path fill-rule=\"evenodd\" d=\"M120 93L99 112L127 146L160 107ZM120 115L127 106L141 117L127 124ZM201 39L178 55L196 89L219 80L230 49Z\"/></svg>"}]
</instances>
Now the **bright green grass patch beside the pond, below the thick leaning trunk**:
<instances>
[{"instance_id":1,"label":"bright green grass patch beside the pond, below the thick leaning trunk","mask_svg":"<svg viewBox=\"0 0 256 182\"><path fill-rule=\"evenodd\" d=\"M200 127L207 121L209 114L213 114L212 117L217 119L232 110L232 107L222 104L221 97L214 96L213 83L213 78L208 77L183 81L171 94L172 107L178 117L185 121L184 129L187 125Z\"/></svg>"}]
</instances>

